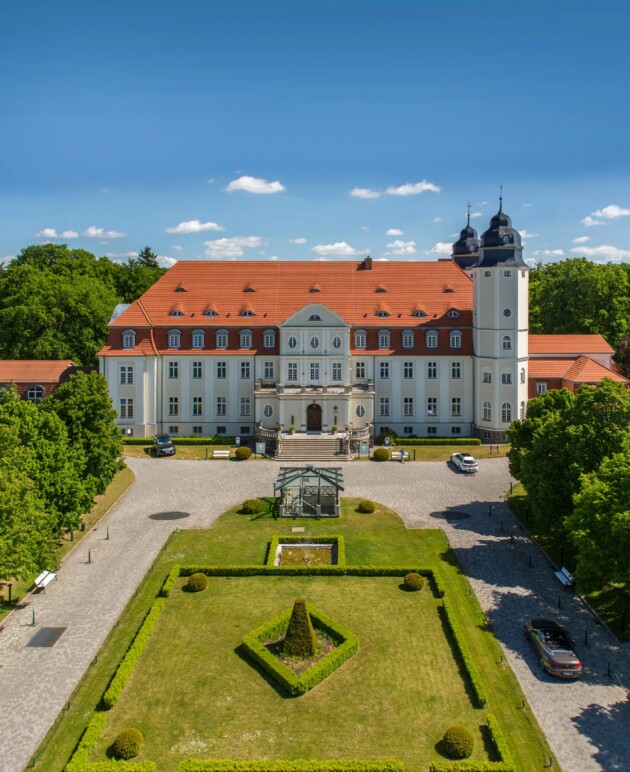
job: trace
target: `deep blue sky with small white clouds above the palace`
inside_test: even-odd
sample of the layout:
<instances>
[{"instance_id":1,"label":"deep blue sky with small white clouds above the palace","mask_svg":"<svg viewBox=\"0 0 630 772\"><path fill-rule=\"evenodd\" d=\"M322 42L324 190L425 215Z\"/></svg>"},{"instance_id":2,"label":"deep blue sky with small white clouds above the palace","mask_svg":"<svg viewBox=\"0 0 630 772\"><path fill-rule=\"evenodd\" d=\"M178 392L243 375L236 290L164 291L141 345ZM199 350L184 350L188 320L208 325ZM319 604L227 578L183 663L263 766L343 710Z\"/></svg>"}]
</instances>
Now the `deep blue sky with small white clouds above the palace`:
<instances>
[{"instance_id":1,"label":"deep blue sky with small white clouds above the palace","mask_svg":"<svg viewBox=\"0 0 630 772\"><path fill-rule=\"evenodd\" d=\"M431 260L500 183L526 257L627 261L628 39L607 0L4 4L0 261Z\"/></svg>"}]
</instances>

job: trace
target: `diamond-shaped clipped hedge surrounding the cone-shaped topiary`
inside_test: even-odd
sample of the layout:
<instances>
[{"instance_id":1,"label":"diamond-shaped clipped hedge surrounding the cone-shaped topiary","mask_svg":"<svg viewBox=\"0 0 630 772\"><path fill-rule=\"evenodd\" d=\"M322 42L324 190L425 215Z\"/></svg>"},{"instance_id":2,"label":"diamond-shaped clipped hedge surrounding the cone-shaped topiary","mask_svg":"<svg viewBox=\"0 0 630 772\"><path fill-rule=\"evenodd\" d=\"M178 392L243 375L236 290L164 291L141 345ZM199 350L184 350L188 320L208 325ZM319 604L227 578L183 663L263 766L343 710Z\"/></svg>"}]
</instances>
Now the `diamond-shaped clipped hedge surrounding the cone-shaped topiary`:
<instances>
[{"instance_id":1,"label":"diamond-shaped clipped hedge surrounding the cone-shaped topiary","mask_svg":"<svg viewBox=\"0 0 630 772\"><path fill-rule=\"evenodd\" d=\"M307 603L306 605L313 626L323 630L332 638L342 641L342 643L337 646L334 651L326 654L325 657L312 665L305 673L302 673L302 675L294 673L291 668L280 662L277 657L263 646L264 641L267 641L270 638L279 638L283 635L289 623L291 609L280 614L280 616L277 616L275 619L272 619L270 622L267 622L243 638L243 648L249 656L257 662L263 670L269 673L280 686L294 696L304 694L304 692L317 686L318 683L337 670L338 667L343 665L343 663L359 649L359 639L354 633L346 630L345 627L327 614L318 611L314 606L311 606L310 603Z\"/></svg>"}]
</instances>

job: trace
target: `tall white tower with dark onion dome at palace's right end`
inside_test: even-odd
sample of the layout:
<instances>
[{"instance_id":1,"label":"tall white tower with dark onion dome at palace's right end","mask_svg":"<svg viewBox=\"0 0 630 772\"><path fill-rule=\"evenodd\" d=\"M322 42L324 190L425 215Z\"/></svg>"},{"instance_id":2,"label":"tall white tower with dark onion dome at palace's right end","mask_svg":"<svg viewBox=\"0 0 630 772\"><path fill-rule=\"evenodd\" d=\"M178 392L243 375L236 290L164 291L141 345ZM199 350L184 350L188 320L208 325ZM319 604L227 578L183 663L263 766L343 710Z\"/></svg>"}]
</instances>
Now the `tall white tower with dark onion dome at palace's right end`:
<instances>
[{"instance_id":1,"label":"tall white tower with dark onion dome at palace's right end","mask_svg":"<svg viewBox=\"0 0 630 772\"><path fill-rule=\"evenodd\" d=\"M499 211L480 239L473 278L475 436L503 442L525 415L528 360L528 267L518 231Z\"/></svg>"}]
</instances>

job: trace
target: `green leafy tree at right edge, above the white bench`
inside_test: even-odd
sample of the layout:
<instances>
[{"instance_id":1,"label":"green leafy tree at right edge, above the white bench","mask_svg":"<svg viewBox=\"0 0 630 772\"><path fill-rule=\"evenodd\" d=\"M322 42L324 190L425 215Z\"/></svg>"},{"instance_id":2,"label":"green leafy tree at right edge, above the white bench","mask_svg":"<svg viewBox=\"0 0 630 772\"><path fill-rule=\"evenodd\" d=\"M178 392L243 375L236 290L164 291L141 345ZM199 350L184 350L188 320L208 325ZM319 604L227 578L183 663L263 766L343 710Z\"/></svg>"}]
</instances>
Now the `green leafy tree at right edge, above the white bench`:
<instances>
[{"instance_id":1,"label":"green leafy tree at right edge, above the white bench","mask_svg":"<svg viewBox=\"0 0 630 772\"><path fill-rule=\"evenodd\" d=\"M585 590L630 583L630 441L584 475L567 521L578 549L575 577Z\"/></svg>"}]
</instances>

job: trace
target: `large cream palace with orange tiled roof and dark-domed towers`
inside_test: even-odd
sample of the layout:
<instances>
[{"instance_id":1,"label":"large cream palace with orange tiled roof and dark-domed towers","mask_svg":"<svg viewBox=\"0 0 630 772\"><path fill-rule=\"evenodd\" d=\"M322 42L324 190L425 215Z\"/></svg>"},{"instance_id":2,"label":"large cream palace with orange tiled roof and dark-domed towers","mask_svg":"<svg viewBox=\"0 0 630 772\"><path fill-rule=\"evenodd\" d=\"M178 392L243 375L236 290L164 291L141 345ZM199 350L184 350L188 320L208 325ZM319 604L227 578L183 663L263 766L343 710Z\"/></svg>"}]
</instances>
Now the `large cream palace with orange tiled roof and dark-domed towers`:
<instances>
[{"instance_id":1,"label":"large cream palace with orange tiled roof and dark-domed towers","mask_svg":"<svg viewBox=\"0 0 630 772\"><path fill-rule=\"evenodd\" d=\"M597 335L529 335L528 267L502 207L436 262L180 261L116 309L99 352L134 436L489 442L547 387L624 380L611 357Z\"/></svg>"}]
</instances>

